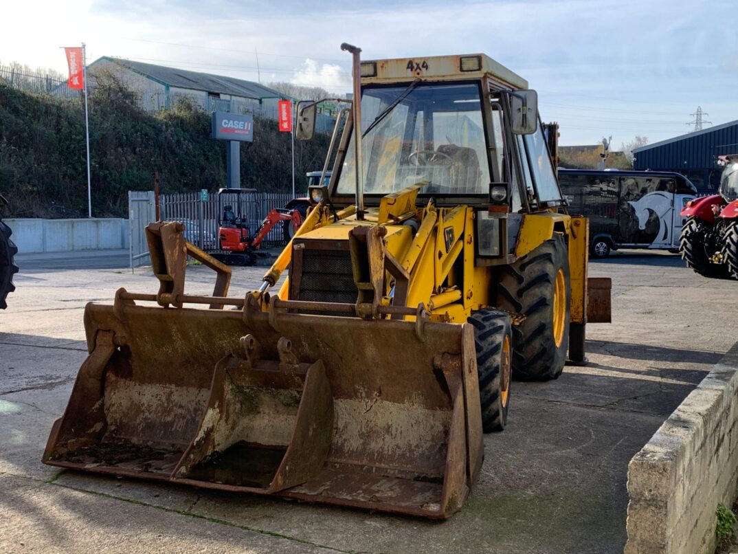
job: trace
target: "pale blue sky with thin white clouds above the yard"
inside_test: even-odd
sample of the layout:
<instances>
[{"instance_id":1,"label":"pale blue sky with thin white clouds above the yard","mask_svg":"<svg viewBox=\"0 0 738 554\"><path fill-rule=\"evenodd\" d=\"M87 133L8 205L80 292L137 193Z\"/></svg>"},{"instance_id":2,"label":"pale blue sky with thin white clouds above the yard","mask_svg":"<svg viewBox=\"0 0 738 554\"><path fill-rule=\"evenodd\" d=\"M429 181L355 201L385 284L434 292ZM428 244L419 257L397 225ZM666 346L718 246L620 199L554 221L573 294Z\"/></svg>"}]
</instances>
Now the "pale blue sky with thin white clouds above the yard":
<instances>
[{"instance_id":1,"label":"pale blue sky with thin white clouds above the yard","mask_svg":"<svg viewBox=\"0 0 738 554\"><path fill-rule=\"evenodd\" d=\"M32 19L29 21L29 5ZM688 133L701 106L738 120L735 0L0 0L0 63L66 72L59 47L351 90L351 57L483 52L537 89L562 145ZM708 126L708 124L706 124Z\"/></svg>"}]
</instances>

